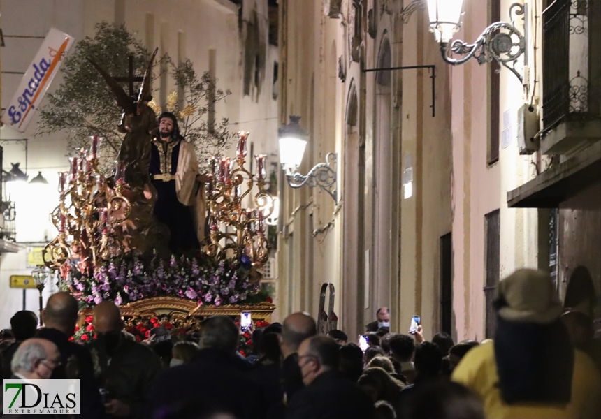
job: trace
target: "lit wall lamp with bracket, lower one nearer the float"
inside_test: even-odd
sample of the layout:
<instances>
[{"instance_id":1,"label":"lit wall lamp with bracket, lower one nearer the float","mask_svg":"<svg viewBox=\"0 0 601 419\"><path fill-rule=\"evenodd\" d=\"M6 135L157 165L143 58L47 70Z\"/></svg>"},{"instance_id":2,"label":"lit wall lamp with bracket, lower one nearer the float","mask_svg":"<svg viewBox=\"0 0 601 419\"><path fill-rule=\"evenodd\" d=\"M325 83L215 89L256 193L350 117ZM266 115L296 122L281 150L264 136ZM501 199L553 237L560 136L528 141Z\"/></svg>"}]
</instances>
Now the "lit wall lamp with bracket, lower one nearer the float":
<instances>
[{"instance_id":1,"label":"lit wall lamp with bracket, lower one nearer the float","mask_svg":"<svg viewBox=\"0 0 601 419\"><path fill-rule=\"evenodd\" d=\"M298 124L301 117L291 115L290 122L280 127L277 131L280 138L280 163L282 169L286 172L286 179L292 188L301 186L319 186L332 197L334 202L338 201L336 196L336 169L335 163L337 154L328 153L326 163L318 163L307 175L301 175L297 172L298 166L301 166L305 147L309 140L309 134ZM333 164L331 164L333 163ZM333 167L334 165L334 167Z\"/></svg>"}]
</instances>

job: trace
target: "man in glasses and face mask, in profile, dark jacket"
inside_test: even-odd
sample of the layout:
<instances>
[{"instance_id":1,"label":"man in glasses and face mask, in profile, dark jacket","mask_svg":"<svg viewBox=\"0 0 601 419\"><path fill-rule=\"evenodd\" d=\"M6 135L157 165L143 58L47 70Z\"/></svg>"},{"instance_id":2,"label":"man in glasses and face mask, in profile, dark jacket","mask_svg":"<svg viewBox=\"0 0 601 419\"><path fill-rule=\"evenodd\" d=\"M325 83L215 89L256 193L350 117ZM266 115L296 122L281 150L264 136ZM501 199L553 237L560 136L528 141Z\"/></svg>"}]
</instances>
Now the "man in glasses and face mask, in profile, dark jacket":
<instances>
[{"instance_id":1,"label":"man in glasses and face mask, in profile, dark jacket","mask_svg":"<svg viewBox=\"0 0 601 419\"><path fill-rule=\"evenodd\" d=\"M340 346L326 336L305 339L298 348L305 388L291 400L287 419L373 418L374 406L355 383L340 375Z\"/></svg>"}]
</instances>

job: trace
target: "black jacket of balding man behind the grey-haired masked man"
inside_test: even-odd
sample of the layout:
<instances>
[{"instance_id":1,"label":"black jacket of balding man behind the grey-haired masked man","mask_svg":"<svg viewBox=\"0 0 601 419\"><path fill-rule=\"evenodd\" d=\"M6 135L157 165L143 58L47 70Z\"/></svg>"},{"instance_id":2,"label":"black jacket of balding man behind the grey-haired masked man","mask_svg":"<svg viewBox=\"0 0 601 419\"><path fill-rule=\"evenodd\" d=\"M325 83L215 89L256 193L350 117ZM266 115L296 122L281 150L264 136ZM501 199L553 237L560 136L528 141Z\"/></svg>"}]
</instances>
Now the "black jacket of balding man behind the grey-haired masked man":
<instances>
[{"instance_id":1,"label":"black jacket of balding man behind the grey-haired masked man","mask_svg":"<svg viewBox=\"0 0 601 419\"><path fill-rule=\"evenodd\" d=\"M59 348L61 365L56 367L50 378L61 380L66 378L80 379L81 417L104 418L104 406L94 379L92 356L85 346L68 340L68 336L57 329L43 328L36 332L36 337L52 341Z\"/></svg>"}]
</instances>

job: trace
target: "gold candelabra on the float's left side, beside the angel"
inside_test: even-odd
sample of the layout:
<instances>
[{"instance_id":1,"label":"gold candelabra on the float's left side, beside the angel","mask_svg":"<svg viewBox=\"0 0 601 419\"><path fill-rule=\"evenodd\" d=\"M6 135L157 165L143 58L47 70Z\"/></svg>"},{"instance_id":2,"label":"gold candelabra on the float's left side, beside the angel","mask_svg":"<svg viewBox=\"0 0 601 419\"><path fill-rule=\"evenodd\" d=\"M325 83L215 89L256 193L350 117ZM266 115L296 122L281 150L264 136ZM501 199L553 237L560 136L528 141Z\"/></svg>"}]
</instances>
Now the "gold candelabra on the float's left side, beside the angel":
<instances>
[{"instance_id":1,"label":"gold candelabra on the float's left side, beside the angel","mask_svg":"<svg viewBox=\"0 0 601 419\"><path fill-rule=\"evenodd\" d=\"M110 187L98 168L101 139L91 137L87 153L69 158L68 172L59 172L60 203L52 212L52 223L59 234L43 250L46 266L57 269L72 254L80 258L80 270L94 267L102 260L115 256L123 249L121 240L114 234L114 225L125 221L131 213L129 200L124 193L123 162L117 162L115 179ZM71 244L67 237L72 236Z\"/></svg>"}]
</instances>

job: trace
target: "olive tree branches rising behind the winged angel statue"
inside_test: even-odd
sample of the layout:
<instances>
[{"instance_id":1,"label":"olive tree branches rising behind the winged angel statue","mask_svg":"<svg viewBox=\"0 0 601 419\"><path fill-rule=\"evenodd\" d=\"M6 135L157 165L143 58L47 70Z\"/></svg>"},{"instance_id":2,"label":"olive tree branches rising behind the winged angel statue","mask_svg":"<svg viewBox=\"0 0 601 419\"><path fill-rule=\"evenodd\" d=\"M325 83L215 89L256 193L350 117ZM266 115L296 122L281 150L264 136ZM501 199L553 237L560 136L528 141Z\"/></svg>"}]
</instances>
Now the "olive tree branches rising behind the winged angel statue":
<instances>
[{"instance_id":1,"label":"olive tree branches rising behind the winged angel statue","mask_svg":"<svg viewBox=\"0 0 601 419\"><path fill-rule=\"evenodd\" d=\"M64 81L48 95L48 104L41 108L41 123L36 135L66 132L68 154L73 153L71 150L89 147L89 136L99 135L104 138L101 166L108 171L123 140L123 135L117 132L122 110L88 58L94 59L113 77L124 77L129 75L130 56L133 57L133 74L143 75L151 56L146 47L124 25L96 24L94 38L79 41L74 52L64 60L61 66ZM205 120L209 104L222 100L229 91L216 90L212 94L215 80L211 80L208 73L199 78L189 60L175 65L164 54L154 66L154 80L160 78L163 71L169 71L180 91L184 92L184 108L187 105L194 107L194 113L180 121L180 132L194 144L201 163L206 155L219 154L229 148L233 135L229 133L227 119L222 119L214 128ZM153 84L156 87L157 83ZM122 85L128 91L127 83ZM134 89L137 94L139 83L134 83ZM157 89L153 96L158 98Z\"/></svg>"}]
</instances>

